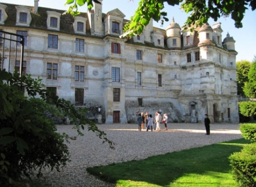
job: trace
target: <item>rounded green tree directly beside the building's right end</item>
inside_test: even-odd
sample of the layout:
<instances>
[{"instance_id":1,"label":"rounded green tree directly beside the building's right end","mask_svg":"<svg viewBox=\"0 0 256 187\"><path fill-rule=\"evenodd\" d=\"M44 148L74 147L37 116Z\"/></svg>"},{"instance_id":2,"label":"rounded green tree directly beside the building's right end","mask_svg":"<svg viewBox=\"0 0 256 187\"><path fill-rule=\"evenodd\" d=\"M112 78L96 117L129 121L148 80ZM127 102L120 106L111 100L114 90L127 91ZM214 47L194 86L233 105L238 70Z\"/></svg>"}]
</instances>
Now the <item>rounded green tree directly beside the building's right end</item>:
<instances>
[{"instance_id":1,"label":"rounded green tree directly beside the building's right end","mask_svg":"<svg viewBox=\"0 0 256 187\"><path fill-rule=\"evenodd\" d=\"M248 81L248 73L252 63L247 60L236 62L236 80L237 80L237 95L245 95L243 93L243 86Z\"/></svg>"}]
</instances>

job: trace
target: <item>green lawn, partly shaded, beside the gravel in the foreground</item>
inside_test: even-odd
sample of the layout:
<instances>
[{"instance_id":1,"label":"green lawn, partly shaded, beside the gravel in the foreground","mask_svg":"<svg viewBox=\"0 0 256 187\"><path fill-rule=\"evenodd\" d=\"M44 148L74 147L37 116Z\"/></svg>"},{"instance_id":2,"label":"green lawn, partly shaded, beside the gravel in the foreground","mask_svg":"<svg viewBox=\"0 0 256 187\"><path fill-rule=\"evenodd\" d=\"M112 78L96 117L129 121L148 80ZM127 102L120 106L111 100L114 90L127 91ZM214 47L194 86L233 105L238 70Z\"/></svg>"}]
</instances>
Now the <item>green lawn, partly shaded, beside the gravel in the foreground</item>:
<instances>
[{"instance_id":1,"label":"green lawn, partly shaded, beside the gravel in the foreground","mask_svg":"<svg viewBox=\"0 0 256 187\"><path fill-rule=\"evenodd\" d=\"M238 186L231 173L228 157L249 143L242 138L144 160L88 167L87 171L117 187Z\"/></svg>"}]
</instances>

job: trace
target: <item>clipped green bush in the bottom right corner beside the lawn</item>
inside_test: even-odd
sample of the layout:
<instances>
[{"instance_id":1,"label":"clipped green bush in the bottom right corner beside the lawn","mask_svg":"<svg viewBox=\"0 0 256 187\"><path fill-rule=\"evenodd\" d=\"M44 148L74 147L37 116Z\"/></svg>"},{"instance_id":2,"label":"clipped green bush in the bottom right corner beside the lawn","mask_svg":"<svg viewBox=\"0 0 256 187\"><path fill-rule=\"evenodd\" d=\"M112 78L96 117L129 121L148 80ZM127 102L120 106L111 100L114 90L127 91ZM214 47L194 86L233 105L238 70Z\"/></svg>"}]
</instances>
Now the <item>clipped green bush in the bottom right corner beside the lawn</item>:
<instances>
[{"instance_id":1,"label":"clipped green bush in the bottom right corner beside the lawn","mask_svg":"<svg viewBox=\"0 0 256 187\"><path fill-rule=\"evenodd\" d=\"M229 156L234 176L242 187L256 184L256 144L245 146L241 152Z\"/></svg>"}]
</instances>

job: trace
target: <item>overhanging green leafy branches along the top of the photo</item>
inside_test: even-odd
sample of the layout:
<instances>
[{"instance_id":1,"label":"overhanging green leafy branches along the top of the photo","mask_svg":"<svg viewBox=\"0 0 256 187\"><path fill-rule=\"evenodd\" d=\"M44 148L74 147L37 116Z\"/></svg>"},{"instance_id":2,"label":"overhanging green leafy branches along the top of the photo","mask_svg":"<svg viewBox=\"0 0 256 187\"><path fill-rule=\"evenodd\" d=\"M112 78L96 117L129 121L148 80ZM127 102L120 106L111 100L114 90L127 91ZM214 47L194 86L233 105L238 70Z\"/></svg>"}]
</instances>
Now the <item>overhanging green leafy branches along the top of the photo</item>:
<instances>
[{"instance_id":1,"label":"overhanging green leafy branches along the top of the photo","mask_svg":"<svg viewBox=\"0 0 256 187\"><path fill-rule=\"evenodd\" d=\"M66 12L76 16L79 14L77 5L83 6L87 3L88 9L92 9L93 2L100 3L97 0L66 0L66 4L72 4ZM235 21L235 27L242 28L243 15L248 7L251 7L252 10L256 8L256 0L140 0L135 15L124 27L125 34L123 37L141 34L151 18L162 23L168 21L167 12L161 11L164 8L164 3L172 6L181 4L181 8L185 12L191 12L185 22L185 29L191 25L194 27L203 25L208 22L209 18L217 21L221 16L227 17L230 15Z\"/></svg>"}]
</instances>

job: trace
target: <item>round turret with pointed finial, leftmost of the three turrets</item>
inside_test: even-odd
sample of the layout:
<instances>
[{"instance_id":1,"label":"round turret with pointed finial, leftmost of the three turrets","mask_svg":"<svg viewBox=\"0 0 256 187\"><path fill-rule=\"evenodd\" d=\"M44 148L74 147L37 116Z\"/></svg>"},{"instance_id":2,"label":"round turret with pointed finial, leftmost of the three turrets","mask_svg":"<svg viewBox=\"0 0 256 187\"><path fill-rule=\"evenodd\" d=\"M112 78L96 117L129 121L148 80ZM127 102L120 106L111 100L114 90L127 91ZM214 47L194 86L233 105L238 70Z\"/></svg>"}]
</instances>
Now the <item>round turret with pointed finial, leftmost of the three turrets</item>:
<instances>
[{"instance_id":1,"label":"round turret with pointed finial, leftmost of the three turrets","mask_svg":"<svg viewBox=\"0 0 256 187\"><path fill-rule=\"evenodd\" d=\"M168 48L180 48L181 47L181 28L178 23L173 22L169 24L166 29L167 46Z\"/></svg>"}]
</instances>

